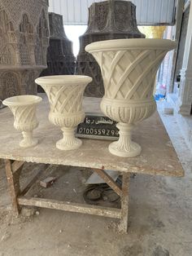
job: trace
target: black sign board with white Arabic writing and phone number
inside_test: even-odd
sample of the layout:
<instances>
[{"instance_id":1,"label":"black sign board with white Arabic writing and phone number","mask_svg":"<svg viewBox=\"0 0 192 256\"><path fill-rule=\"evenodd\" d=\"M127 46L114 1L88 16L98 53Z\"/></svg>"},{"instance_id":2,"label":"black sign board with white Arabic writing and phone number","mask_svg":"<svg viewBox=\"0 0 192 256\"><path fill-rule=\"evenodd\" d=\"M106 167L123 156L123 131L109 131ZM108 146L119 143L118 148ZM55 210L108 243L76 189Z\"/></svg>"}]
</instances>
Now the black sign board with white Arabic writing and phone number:
<instances>
[{"instance_id":1,"label":"black sign board with white Arabic writing and phone number","mask_svg":"<svg viewBox=\"0 0 192 256\"><path fill-rule=\"evenodd\" d=\"M89 139L113 139L119 138L119 130L116 121L98 113L86 113L85 120L77 126L76 137Z\"/></svg>"}]
</instances>

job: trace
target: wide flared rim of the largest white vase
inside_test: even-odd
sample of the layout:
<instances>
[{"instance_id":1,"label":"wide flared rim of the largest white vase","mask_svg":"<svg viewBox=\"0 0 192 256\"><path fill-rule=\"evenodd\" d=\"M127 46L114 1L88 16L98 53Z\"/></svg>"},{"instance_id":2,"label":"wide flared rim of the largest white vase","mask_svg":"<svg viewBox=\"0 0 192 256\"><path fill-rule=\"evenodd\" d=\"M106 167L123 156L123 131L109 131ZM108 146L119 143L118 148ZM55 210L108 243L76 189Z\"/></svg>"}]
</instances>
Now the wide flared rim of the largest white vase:
<instances>
[{"instance_id":1,"label":"wide flared rim of the largest white vase","mask_svg":"<svg viewBox=\"0 0 192 256\"><path fill-rule=\"evenodd\" d=\"M177 47L177 42L159 38L125 38L92 42L85 46L85 51L112 51L125 49L147 50L172 50Z\"/></svg>"}]
</instances>

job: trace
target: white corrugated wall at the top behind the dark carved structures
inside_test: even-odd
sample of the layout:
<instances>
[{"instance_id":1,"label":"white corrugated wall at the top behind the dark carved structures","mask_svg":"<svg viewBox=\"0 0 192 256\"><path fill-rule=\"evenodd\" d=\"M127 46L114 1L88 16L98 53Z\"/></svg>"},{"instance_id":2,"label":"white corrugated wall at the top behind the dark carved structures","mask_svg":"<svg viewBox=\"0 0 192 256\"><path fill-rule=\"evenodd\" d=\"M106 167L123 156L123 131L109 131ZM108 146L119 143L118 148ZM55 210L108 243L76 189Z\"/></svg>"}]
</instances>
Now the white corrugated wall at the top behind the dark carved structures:
<instances>
[{"instance_id":1,"label":"white corrugated wall at the top behind the dark carved structures","mask_svg":"<svg viewBox=\"0 0 192 256\"><path fill-rule=\"evenodd\" d=\"M49 11L63 15L64 24L87 24L88 7L103 0L50 0ZM111 1L111 0L109 0ZM137 24L173 24L175 0L132 0L137 6Z\"/></svg>"}]
</instances>

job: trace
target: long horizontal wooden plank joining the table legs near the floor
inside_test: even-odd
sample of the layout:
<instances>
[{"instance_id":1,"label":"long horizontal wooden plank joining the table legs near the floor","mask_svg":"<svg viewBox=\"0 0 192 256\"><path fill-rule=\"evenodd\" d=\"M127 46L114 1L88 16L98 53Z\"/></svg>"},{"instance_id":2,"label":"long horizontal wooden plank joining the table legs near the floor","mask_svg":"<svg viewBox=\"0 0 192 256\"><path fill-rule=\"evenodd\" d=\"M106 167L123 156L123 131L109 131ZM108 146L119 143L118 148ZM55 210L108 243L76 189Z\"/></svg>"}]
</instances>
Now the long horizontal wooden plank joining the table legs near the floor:
<instances>
[{"instance_id":1,"label":"long horizontal wooden plank joining the table legs near the floor","mask_svg":"<svg viewBox=\"0 0 192 256\"><path fill-rule=\"evenodd\" d=\"M38 197L19 197L19 205L37 206L55 210L66 210L81 214L92 214L110 218L120 218L120 209L102 207L96 205L77 204L68 201L56 201L53 199L44 199Z\"/></svg>"}]
</instances>

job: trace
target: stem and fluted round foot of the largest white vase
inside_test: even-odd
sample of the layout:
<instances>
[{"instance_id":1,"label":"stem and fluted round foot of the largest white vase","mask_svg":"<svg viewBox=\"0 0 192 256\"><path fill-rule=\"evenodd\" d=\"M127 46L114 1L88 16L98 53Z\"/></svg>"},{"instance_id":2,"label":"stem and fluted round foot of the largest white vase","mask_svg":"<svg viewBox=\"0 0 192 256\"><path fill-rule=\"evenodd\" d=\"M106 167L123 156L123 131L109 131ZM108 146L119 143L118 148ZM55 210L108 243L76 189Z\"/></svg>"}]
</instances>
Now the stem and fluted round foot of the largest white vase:
<instances>
[{"instance_id":1,"label":"stem and fluted round foot of the largest white vase","mask_svg":"<svg viewBox=\"0 0 192 256\"><path fill-rule=\"evenodd\" d=\"M138 156L141 153L142 148L139 144L131 140L131 130L133 129L133 125L119 122L116 127L120 130L120 139L109 145L109 152L118 157Z\"/></svg>"}]
</instances>

